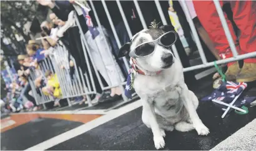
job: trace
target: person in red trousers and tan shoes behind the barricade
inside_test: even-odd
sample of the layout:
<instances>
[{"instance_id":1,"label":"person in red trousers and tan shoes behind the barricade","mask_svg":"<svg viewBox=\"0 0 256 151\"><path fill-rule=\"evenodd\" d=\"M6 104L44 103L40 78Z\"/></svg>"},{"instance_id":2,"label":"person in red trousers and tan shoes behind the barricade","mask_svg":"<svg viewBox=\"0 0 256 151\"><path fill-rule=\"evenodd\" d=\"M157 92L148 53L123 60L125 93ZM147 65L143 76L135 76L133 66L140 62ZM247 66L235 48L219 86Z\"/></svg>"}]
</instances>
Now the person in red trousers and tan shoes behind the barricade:
<instances>
[{"instance_id":1,"label":"person in red trousers and tan shoes behind the barricade","mask_svg":"<svg viewBox=\"0 0 256 151\"><path fill-rule=\"evenodd\" d=\"M229 31L235 42L236 49L239 54L246 54L256 51L256 1L219 1L220 6L225 2L230 2L234 22L240 30L240 37L235 36L234 27L227 19ZM215 44L215 49L219 51L220 57L226 59L232 57L229 42L225 36L222 23L216 11L214 1L193 1L197 17L199 17L202 26L208 32L210 39ZM239 42L237 42L237 39ZM225 72L227 80L237 80L237 82L252 82L256 80L256 58L244 59L242 69L239 63L230 62L227 72Z\"/></svg>"}]
</instances>

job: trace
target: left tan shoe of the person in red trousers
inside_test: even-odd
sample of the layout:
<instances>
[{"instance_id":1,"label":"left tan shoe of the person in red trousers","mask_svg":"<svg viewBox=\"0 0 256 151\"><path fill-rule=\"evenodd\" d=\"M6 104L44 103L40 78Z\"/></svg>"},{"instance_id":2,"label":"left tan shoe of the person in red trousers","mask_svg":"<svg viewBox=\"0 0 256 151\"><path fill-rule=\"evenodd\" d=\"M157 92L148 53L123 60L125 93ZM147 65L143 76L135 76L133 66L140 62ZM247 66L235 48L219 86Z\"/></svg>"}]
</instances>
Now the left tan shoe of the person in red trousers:
<instances>
[{"instance_id":1,"label":"left tan shoe of the person in red trousers","mask_svg":"<svg viewBox=\"0 0 256 151\"><path fill-rule=\"evenodd\" d=\"M226 80L235 81L240 71L239 62L235 62L227 68L227 71L225 72Z\"/></svg>"}]
</instances>

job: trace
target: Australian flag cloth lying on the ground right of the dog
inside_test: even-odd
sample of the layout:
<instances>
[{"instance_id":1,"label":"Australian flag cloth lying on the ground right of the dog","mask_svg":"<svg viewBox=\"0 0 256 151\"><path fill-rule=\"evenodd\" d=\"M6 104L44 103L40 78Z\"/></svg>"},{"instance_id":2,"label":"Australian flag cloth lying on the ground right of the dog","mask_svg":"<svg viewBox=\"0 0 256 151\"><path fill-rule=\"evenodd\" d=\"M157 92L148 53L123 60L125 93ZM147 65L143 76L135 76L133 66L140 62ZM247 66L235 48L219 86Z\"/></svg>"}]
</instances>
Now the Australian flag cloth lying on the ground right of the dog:
<instances>
[{"instance_id":1,"label":"Australian flag cloth lying on the ground right of the dog","mask_svg":"<svg viewBox=\"0 0 256 151\"><path fill-rule=\"evenodd\" d=\"M214 92L212 92L212 94L207 95L201 100L211 101L214 99L230 104L237 95L239 95L245 90L246 87L247 84L245 82L222 82L220 87L215 89ZM235 101L233 105L235 107L242 107L242 105L250 104L251 102L254 102L254 100L256 100L256 97L245 97L243 95L240 95L240 97ZM217 104L215 102L214 104L219 106L222 110L227 109L227 106L225 105Z\"/></svg>"}]
</instances>

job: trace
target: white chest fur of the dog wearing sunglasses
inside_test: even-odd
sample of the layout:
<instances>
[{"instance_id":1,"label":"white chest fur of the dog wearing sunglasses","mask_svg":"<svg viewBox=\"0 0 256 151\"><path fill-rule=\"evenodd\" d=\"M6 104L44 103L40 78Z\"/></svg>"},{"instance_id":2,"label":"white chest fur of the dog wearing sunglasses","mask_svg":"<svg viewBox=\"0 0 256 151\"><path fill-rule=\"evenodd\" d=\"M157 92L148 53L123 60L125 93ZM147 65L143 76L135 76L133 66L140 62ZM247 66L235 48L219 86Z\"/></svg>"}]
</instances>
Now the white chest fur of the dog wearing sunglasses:
<instances>
[{"instance_id":1,"label":"white chest fur of the dog wearing sunglasses","mask_svg":"<svg viewBox=\"0 0 256 151\"><path fill-rule=\"evenodd\" d=\"M174 66L175 68L175 66ZM181 88L179 80L183 76L167 74L173 69L163 71L159 76L135 76L134 89L140 97L146 97L150 104L154 104L155 112L164 118L179 114L183 107L180 100Z\"/></svg>"}]
</instances>

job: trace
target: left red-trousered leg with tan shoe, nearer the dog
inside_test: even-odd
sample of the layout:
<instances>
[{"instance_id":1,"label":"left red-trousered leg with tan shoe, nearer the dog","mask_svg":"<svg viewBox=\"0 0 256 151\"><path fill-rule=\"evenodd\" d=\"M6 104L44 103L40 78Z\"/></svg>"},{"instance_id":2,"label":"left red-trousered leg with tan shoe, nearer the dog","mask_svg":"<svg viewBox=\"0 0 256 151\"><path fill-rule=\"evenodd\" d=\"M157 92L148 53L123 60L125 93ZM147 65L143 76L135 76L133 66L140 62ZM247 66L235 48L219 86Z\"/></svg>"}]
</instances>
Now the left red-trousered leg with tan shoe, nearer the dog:
<instances>
[{"instance_id":1,"label":"left red-trousered leg with tan shoe, nearer the dog","mask_svg":"<svg viewBox=\"0 0 256 151\"><path fill-rule=\"evenodd\" d=\"M223 6L224 2L219 1L220 6ZM197 12L197 17L204 27L205 31L209 34L210 39L214 42L214 47L217 51L219 51L219 56L222 59L226 59L232 57L232 52L230 50L229 42L227 41L227 37L225 36L224 28L222 27L222 23L220 21L219 15L216 11L215 5L213 1L193 1L195 11ZM224 13L225 19L229 26L229 31L237 46L237 51L240 52L239 44L236 42L237 37L235 36L234 28L232 23L227 19L227 15ZM239 64L238 62L229 62L227 65L228 69L225 72L227 80L235 80L237 74L239 74Z\"/></svg>"}]
</instances>

